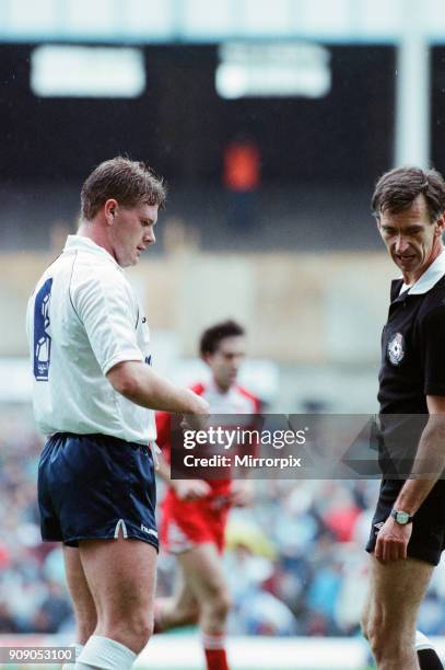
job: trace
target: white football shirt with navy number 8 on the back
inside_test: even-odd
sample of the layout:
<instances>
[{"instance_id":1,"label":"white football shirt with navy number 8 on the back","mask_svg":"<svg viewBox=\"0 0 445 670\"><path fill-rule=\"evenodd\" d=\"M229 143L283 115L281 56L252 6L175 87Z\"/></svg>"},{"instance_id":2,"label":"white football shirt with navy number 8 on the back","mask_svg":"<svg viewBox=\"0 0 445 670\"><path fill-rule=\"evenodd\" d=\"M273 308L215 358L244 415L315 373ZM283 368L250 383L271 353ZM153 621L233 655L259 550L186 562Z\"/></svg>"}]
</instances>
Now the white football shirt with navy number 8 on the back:
<instances>
[{"instance_id":1,"label":"white football shirt with navy number 8 on the back","mask_svg":"<svg viewBox=\"0 0 445 670\"><path fill-rule=\"evenodd\" d=\"M39 430L155 440L153 412L106 379L125 360L151 362L147 319L122 268L89 238L69 235L45 270L26 315Z\"/></svg>"}]
</instances>

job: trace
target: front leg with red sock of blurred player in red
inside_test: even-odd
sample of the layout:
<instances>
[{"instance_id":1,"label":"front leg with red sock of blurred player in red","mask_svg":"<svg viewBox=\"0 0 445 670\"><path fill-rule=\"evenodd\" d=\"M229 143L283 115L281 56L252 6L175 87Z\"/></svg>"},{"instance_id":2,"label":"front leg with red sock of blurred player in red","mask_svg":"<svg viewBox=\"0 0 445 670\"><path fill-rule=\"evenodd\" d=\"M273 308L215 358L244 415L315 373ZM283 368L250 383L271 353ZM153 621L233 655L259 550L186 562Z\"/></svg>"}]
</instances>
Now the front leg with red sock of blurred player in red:
<instances>
[{"instance_id":1,"label":"front leg with red sock of blurred player in red","mask_svg":"<svg viewBox=\"0 0 445 670\"><path fill-rule=\"evenodd\" d=\"M214 544L204 543L180 554L178 562L199 605L208 670L226 670L224 636L231 599L221 555Z\"/></svg>"}]
</instances>

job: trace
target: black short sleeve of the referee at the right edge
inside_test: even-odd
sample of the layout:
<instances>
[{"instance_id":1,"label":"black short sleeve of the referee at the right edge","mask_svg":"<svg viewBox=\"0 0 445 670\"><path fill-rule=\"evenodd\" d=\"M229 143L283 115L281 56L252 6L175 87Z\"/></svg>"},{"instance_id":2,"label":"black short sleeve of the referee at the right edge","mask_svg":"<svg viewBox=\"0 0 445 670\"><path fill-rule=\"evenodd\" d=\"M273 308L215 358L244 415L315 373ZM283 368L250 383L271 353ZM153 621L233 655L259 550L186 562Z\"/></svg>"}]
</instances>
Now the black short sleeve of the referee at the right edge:
<instances>
[{"instance_id":1,"label":"black short sleeve of the referee at the right edge","mask_svg":"<svg viewBox=\"0 0 445 670\"><path fill-rule=\"evenodd\" d=\"M422 354L425 395L445 395L445 305L423 320Z\"/></svg>"}]
</instances>

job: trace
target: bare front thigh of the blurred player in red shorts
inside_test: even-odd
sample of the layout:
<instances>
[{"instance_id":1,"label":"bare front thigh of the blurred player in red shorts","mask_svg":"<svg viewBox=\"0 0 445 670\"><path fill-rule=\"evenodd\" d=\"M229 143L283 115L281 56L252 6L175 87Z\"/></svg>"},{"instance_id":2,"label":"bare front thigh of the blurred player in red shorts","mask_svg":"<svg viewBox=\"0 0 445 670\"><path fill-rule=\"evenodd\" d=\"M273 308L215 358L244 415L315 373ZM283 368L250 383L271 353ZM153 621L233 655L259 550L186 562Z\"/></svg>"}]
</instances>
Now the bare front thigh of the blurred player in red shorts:
<instances>
[{"instance_id":1,"label":"bare front thigh of the blurred player in red shorts","mask_svg":"<svg viewBox=\"0 0 445 670\"><path fill-rule=\"evenodd\" d=\"M218 547L212 542L197 544L178 555L185 581L199 602L223 597L227 582Z\"/></svg>"}]
</instances>

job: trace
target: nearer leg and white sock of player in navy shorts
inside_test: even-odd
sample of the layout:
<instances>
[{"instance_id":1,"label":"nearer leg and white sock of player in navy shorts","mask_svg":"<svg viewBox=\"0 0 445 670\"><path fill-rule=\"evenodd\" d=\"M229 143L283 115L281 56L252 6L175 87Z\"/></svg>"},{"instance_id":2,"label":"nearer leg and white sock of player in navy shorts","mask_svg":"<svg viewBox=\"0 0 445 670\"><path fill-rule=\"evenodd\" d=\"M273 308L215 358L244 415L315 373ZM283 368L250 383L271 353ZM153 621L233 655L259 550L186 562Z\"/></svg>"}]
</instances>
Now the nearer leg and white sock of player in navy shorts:
<instances>
[{"instance_id":1,"label":"nearer leg and white sock of player in navy shorts","mask_svg":"<svg viewBox=\"0 0 445 670\"><path fill-rule=\"evenodd\" d=\"M97 625L75 667L130 668L152 634L156 551L122 536L79 544Z\"/></svg>"}]
</instances>

